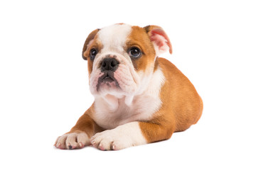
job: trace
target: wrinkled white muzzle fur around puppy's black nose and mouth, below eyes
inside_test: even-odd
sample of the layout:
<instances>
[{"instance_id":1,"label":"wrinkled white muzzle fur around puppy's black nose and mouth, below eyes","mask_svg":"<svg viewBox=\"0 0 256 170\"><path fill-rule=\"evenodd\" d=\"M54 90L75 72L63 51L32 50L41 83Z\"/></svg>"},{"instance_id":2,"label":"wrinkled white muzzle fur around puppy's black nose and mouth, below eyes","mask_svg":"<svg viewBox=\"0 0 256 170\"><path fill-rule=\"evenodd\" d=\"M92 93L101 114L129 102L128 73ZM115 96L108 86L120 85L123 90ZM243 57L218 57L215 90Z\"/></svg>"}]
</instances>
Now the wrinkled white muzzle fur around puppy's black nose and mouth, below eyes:
<instances>
[{"instance_id":1,"label":"wrinkled white muzzle fur around puppy's black nose and mouth, below eyes","mask_svg":"<svg viewBox=\"0 0 256 170\"><path fill-rule=\"evenodd\" d=\"M120 89L115 86L107 87L101 85L99 91L97 91L98 79L102 76L100 62L109 54L115 55L116 59L120 62L118 69L114 72L114 78L117 79ZM92 74L90 74L90 91L92 95L95 96L95 98L102 97L107 103L112 103L112 110L117 108L117 100L113 100L111 96L115 96L116 98L124 98L124 96L126 96L126 103L130 105L141 82L141 77L139 77L139 74L134 70L132 62L129 61L130 58L127 60L126 55L127 54L120 55L117 52L101 53L99 57L95 59Z\"/></svg>"}]
</instances>

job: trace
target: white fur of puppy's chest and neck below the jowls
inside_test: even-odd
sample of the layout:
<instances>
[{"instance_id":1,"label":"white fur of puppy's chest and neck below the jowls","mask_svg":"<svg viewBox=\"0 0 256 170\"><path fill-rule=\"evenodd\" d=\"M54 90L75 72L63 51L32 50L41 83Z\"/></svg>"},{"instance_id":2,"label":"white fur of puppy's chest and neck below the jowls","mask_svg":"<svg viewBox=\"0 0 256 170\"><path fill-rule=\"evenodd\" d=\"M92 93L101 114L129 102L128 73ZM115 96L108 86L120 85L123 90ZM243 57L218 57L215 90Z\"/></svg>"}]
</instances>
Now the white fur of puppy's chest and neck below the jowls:
<instances>
[{"instance_id":1,"label":"white fur of puppy's chest and neck below the jowls","mask_svg":"<svg viewBox=\"0 0 256 170\"><path fill-rule=\"evenodd\" d=\"M127 106L126 97L117 98L110 95L112 100L115 100L116 109L112 110L112 105L104 98L98 96L95 98L95 114L94 120L105 129L113 129L119 125L130 123L133 121L150 120L152 115L159 110L161 106L160 90L164 84L165 78L161 69L157 69L150 76L147 82L145 81L139 89L143 92L135 94L132 103Z\"/></svg>"}]
</instances>

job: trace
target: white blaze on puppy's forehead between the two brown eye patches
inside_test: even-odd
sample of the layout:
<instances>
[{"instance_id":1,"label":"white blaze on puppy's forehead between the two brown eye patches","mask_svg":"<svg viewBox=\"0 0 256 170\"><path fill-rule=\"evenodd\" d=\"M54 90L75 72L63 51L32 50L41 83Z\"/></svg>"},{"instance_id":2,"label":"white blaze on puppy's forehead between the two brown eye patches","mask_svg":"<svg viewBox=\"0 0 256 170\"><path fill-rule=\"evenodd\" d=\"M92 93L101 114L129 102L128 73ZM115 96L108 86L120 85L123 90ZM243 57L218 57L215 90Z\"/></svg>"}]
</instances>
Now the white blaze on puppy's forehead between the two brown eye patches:
<instances>
[{"instance_id":1,"label":"white blaze on puppy's forehead between the two brown eye patches","mask_svg":"<svg viewBox=\"0 0 256 170\"><path fill-rule=\"evenodd\" d=\"M132 26L116 24L102 28L98 35L103 45L102 50L122 52L128 35L132 32Z\"/></svg>"}]
</instances>

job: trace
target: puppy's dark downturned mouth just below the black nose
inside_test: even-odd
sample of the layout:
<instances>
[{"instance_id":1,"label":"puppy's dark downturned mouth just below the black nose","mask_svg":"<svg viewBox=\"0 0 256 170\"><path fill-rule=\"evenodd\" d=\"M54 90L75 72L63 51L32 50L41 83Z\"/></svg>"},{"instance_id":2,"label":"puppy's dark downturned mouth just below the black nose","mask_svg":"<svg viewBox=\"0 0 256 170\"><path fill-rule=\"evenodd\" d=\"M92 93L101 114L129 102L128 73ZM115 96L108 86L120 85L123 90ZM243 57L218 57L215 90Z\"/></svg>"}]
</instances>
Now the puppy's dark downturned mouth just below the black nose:
<instances>
[{"instance_id":1,"label":"puppy's dark downturned mouth just below the black nose","mask_svg":"<svg viewBox=\"0 0 256 170\"><path fill-rule=\"evenodd\" d=\"M114 86L119 87L118 81L114 78L114 72L112 71L104 72L104 74L99 77L97 82L97 91L99 91L101 84L107 84L109 87L111 87L110 84L114 84Z\"/></svg>"}]
</instances>

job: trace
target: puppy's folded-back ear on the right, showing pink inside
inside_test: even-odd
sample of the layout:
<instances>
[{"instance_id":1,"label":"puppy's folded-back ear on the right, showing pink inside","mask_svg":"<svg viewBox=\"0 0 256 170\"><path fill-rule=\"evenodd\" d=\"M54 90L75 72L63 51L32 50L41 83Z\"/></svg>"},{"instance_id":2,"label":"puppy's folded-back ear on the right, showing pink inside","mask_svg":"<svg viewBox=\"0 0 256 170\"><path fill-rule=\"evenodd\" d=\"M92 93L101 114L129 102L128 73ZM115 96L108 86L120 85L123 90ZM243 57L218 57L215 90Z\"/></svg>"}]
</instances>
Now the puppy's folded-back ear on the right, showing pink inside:
<instances>
[{"instance_id":1,"label":"puppy's folded-back ear on the right, showing pink inside","mask_svg":"<svg viewBox=\"0 0 256 170\"><path fill-rule=\"evenodd\" d=\"M169 51L172 53L171 42L164 32L163 28L159 26L146 26L144 27L146 33L148 33L151 42L156 50L156 55L161 55L164 52Z\"/></svg>"}]
</instances>

